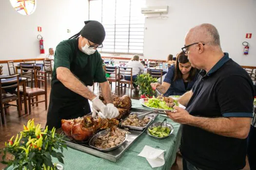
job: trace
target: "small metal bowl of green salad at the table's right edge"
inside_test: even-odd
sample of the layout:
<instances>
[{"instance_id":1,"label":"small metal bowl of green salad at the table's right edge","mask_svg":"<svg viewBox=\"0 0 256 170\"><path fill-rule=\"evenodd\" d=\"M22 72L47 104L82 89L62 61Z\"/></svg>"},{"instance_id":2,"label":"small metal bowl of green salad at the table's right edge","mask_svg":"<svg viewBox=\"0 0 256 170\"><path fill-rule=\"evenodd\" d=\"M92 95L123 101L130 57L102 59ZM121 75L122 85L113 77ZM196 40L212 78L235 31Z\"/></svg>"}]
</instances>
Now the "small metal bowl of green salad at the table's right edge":
<instances>
[{"instance_id":1,"label":"small metal bowl of green salad at the table's right edge","mask_svg":"<svg viewBox=\"0 0 256 170\"><path fill-rule=\"evenodd\" d=\"M147 129L148 135L156 139L163 139L173 133L174 128L171 124L167 123L165 126L165 123L163 123L162 127L160 124L161 122L151 124Z\"/></svg>"}]
</instances>

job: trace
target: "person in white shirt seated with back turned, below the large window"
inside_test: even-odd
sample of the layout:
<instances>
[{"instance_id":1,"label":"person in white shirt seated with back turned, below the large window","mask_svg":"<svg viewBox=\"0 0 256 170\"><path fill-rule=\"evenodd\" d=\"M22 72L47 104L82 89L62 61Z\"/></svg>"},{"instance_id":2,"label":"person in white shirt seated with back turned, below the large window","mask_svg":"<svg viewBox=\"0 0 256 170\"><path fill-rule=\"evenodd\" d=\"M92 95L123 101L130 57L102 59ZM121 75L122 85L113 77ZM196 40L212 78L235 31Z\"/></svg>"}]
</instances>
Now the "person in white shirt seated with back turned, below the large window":
<instances>
[{"instance_id":1,"label":"person in white shirt seated with back turned, below the large window","mask_svg":"<svg viewBox=\"0 0 256 170\"><path fill-rule=\"evenodd\" d=\"M140 74L144 71L144 66L139 62L139 56L138 55L133 56L131 61L129 61L125 67L133 68L133 82L137 78L138 74ZM131 76L126 76L125 75L124 79L125 80L131 80Z\"/></svg>"}]
</instances>

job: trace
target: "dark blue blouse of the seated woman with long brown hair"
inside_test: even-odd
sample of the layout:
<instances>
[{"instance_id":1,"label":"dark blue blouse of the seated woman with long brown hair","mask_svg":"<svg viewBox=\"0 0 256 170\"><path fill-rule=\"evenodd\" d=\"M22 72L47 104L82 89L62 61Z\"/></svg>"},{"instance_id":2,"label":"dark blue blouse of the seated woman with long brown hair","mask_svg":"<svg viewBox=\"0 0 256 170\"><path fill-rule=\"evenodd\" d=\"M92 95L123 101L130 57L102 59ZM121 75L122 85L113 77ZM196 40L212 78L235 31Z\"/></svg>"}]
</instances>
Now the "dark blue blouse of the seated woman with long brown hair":
<instances>
[{"instance_id":1,"label":"dark blue blouse of the seated woman with long brown hair","mask_svg":"<svg viewBox=\"0 0 256 170\"><path fill-rule=\"evenodd\" d=\"M166 76L164 78L164 82L171 84L171 86L168 88L168 90L164 93L164 96L172 96L172 95L183 95L187 91L191 90L193 85L195 84L197 80L197 74L193 81L188 82L187 88L185 88L184 82L182 78L176 79L176 81L173 81L174 79L174 73L175 73L175 65L172 65L168 68L168 72L166 73Z\"/></svg>"}]
</instances>

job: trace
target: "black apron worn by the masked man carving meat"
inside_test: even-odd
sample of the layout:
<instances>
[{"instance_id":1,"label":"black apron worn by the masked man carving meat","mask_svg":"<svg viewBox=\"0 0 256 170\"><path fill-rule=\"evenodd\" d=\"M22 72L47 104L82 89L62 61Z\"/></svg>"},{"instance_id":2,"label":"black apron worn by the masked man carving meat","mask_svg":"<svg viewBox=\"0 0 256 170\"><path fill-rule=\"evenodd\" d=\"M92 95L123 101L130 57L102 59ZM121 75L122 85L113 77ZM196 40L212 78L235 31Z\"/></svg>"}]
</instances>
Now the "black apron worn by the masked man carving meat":
<instances>
[{"instance_id":1,"label":"black apron worn by the masked man carving meat","mask_svg":"<svg viewBox=\"0 0 256 170\"><path fill-rule=\"evenodd\" d=\"M73 60L70 64L70 71L86 86L93 85L93 77L91 75L91 59L88 56L87 65L81 68L76 63L78 49L78 38L76 42L76 49L73 51ZM55 77L57 79L57 76ZM65 87L61 82L52 80L51 84L50 103L47 113L48 129L53 127L59 129L61 127L61 119L75 119L82 117L91 112L88 99L71 91Z\"/></svg>"}]
</instances>

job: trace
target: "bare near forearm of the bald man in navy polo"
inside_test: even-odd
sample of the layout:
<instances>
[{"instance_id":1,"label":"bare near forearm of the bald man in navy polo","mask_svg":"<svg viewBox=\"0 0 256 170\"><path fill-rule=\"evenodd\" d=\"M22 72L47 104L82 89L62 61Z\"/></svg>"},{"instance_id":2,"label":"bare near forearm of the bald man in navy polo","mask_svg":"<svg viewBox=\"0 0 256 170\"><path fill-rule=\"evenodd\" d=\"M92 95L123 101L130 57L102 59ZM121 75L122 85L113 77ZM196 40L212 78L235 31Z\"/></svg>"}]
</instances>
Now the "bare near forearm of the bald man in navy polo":
<instances>
[{"instance_id":1,"label":"bare near forearm of the bald man in navy polo","mask_svg":"<svg viewBox=\"0 0 256 170\"><path fill-rule=\"evenodd\" d=\"M221 136L244 139L248 136L251 118L192 117L188 125L196 126Z\"/></svg>"}]
</instances>

